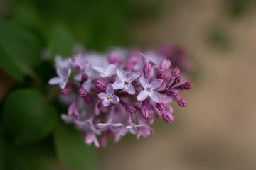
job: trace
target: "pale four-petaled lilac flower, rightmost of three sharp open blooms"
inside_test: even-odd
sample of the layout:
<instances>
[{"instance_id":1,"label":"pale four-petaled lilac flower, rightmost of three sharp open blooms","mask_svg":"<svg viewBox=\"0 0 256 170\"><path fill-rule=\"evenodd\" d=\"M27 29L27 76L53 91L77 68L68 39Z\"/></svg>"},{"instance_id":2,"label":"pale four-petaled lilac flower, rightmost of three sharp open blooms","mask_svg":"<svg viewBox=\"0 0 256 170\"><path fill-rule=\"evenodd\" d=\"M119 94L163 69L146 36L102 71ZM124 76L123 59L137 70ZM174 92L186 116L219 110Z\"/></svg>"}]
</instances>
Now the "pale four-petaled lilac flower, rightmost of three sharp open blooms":
<instances>
[{"instance_id":1,"label":"pale four-petaled lilac flower, rightmost of three sharp open blooms","mask_svg":"<svg viewBox=\"0 0 256 170\"><path fill-rule=\"evenodd\" d=\"M144 77L141 77L139 79L140 83L142 84L142 87L144 90L140 91L137 100L138 101L144 101L148 96L156 103L161 102L161 96L158 92L155 90L161 86L163 80L162 79L154 79L150 84L147 79Z\"/></svg>"}]
</instances>

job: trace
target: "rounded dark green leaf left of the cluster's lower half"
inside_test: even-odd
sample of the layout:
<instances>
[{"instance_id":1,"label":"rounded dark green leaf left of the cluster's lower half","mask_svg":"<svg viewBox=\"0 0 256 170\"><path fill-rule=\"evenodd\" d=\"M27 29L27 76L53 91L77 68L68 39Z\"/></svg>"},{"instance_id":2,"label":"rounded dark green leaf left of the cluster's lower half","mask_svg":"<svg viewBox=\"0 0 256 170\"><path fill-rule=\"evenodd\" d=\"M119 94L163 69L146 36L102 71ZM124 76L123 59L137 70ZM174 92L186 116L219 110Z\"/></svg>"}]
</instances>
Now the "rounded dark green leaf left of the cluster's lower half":
<instances>
[{"instance_id":1,"label":"rounded dark green leaf left of the cluster's lower half","mask_svg":"<svg viewBox=\"0 0 256 170\"><path fill-rule=\"evenodd\" d=\"M53 130L56 120L55 108L36 89L17 89L4 102L4 130L16 144L43 139Z\"/></svg>"}]
</instances>

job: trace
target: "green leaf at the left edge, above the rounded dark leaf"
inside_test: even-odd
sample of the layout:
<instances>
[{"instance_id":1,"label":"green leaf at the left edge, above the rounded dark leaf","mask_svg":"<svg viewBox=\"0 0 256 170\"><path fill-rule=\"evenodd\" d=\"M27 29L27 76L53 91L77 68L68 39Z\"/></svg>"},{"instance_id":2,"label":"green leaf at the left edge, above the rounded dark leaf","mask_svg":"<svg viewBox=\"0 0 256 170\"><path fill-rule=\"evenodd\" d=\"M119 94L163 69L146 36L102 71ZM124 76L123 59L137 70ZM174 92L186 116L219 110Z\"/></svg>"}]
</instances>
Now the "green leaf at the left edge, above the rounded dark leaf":
<instances>
[{"instance_id":1,"label":"green leaf at the left edge, above the rounded dark leaf","mask_svg":"<svg viewBox=\"0 0 256 170\"><path fill-rule=\"evenodd\" d=\"M28 74L33 79L33 67L41 62L40 45L26 30L0 21L0 66L17 81Z\"/></svg>"}]
</instances>

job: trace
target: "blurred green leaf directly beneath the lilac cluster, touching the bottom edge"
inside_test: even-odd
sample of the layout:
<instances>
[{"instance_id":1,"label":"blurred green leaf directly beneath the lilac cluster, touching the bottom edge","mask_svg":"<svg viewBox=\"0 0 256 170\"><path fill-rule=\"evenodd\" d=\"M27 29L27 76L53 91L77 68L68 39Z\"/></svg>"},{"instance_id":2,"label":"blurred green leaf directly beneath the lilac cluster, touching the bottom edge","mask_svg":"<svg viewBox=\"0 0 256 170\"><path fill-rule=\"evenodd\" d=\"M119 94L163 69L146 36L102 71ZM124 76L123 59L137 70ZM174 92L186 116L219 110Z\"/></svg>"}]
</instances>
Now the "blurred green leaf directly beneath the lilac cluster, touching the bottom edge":
<instances>
[{"instance_id":1,"label":"blurred green leaf directly beneath the lilac cluster, touching the bottom edge","mask_svg":"<svg viewBox=\"0 0 256 170\"><path fill-rule=\"evenodd\" d=\"M61 164L80 169L97 169L95 147L87 146L82 134L73 126L58 123L53 137Z\"/></svg>"}]
</instances>

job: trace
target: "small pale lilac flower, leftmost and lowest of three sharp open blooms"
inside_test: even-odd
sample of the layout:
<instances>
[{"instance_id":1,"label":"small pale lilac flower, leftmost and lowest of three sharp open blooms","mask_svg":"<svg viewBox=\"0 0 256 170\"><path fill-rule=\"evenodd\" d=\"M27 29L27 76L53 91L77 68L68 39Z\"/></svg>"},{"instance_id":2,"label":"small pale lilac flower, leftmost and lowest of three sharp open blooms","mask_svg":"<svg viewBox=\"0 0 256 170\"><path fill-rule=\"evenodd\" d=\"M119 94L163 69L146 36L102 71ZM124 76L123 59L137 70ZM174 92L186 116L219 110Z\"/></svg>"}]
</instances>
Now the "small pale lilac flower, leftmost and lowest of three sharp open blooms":
<instances>
[{"instance_id":1,"label":"small pale lilac flower, leftmost and lowest of three sharp open blooms","mask_svg":"<svg viewBox=\"0 0 256 170\"><path fill-rule=\"evenodd\" d=\"M98 94L98 97L102 99L103 106L107 107L110 103L117 104L120 99L114 94L114 87L112 84L107 85L106 93L102 92Z\"/></svg>"}]
</instances>

